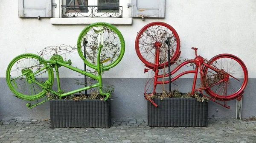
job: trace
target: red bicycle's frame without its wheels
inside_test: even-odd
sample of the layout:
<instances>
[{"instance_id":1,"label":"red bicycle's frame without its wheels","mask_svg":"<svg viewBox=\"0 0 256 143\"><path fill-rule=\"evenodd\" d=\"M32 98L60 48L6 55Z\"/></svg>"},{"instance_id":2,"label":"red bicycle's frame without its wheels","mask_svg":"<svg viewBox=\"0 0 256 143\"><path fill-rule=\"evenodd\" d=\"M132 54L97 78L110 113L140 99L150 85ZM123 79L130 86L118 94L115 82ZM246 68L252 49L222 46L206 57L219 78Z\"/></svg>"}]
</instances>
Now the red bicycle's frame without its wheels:
<instances>
[{"instance_id":1,"label":"red bicycle's frame without its wheels","mask_svg":"<svg viewBox=\"0 0 256 143\"><path fill-rule=\"evenodd\" d=\"M159 48L160 48L160 46L161 46L160 43L158 43L158 42L155 43L155 47L156 47L155 63L156 63L156 64L155 64L154 68L152 69L152 70L155 72L155 75L154 75L154 89L153 89L153 93L150 93L150 94L144 93L145 99L147 99L148 101L150 101L155 107L157 107L157 104L155 104L153 100L151 100L150 98L148 98L148 95L150 96L150 95L153 95L153 94L156 93L155 90L156 90L157 84L168 84L168 83L169 83L169 81L158 81L159 78L163 78L163 77L168 77L168 76L170 76L169 73L167 73L167 74L165 74L165 75L163 75L163 74L162 74L162 75L158 75L158 73L159 73L159 68L158 68L158 67L159 67L159 54L160 54ZM203 87L201 87L201 88L195 89L195 84L196 84L197 76L198 76L198 69L199 69L201 81L203 81L203 78L204 78L204 76L205 76L205 74L204 74L204 72L203 72L204 67L208 67L208 68L210 68L210 69L212 69L212 70L214 70L214 71L216 71L216 72L219 72L220 70L218 70L217 68L212 67L211 65L205 63L205 62L204 62L204 58L197 55L197 50L198 50L198 48L192 47L192 50L195 50L195 59L190 59L190 60L188 60L188 61L182 62L180 65L178 65L177 67L175 67L175 69L172 70L170 74L173 75L173 74L176 73L181 67L183 67L184 65L189 64L189 63L195 64L195 66L196 66L196 67L195 67L195 70L188 70L188 71L184 71L184 72L182 72L182 73L179 73L177 76L175 76L174 78L172 78L172 79L170 80L171 82L175 81L175 80L178 79L180 76L183 76L183 75L185 75L185 74L194 73L194 79L193 79L192 91L191 91L191 94L194 94L195 91L200 91L200 92L202 93L202 90L205 90L205 89L207 89L207 88L213 87L213 86L215 86L216 84L219 84L219 83L221 83L222 81L224 81L224 79L222 79L222 80L218 81L217 83L212 84L211 86L207 86L207 87L204 87L204 86L203 86ZM151 69L151 68L149 68L149 69ZM149 69L145 69L144 72L148 71ZM227 75L227 76L231 76L231 75ZM227 77L227 78L228 78L228 77ZM145 91L145 92L146 92L146 91ZM205 96L205 95L204 95L204 96ZM205 97L207 97L207 96L205 96ZM210 97L207 97L207 98L209 98L210 100L216 102L215 99L213 99L213 98L210 98ZM218 102L216 102L216 103L218 103ZM220 104L220 103L218 103L218 104ZM230 107L227 106L226 104L224 104L224 105L223 105L223 104L220 104L220 105L222 105L222 106L224 106L224 107L226 107L226 108L230 108Z\"/></svg>"}]
</instances>

